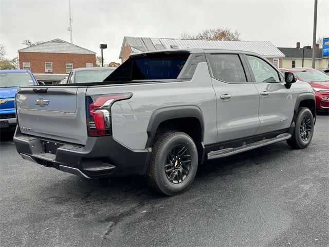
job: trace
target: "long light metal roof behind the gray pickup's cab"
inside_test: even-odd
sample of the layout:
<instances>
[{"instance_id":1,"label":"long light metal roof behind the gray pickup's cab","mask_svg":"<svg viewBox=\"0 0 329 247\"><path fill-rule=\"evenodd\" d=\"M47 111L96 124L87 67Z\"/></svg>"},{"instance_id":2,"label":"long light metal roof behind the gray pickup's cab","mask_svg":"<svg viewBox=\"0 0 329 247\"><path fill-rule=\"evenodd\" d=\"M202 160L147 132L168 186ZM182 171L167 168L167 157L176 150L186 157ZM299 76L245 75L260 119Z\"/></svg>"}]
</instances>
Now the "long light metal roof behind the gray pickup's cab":
<instances>
[{"instance_id":1,"label":"long light metal roof behind the gray pickup's cab","mask_svg":"<svg viewBox=\"0 0 329 247\"><path fill-rule=\"evenodd\" d=\"M142 38L124 37L120 51L122 57L123 48L129 45L133 53L153 50L170 49L176 45L181 49L202 48L202 49L226 49L245 50L255 52L267 58L283 58L285 55L269 41L210 41L210 40L180 40L164 38Z\"/></svg>"}]
</instances>

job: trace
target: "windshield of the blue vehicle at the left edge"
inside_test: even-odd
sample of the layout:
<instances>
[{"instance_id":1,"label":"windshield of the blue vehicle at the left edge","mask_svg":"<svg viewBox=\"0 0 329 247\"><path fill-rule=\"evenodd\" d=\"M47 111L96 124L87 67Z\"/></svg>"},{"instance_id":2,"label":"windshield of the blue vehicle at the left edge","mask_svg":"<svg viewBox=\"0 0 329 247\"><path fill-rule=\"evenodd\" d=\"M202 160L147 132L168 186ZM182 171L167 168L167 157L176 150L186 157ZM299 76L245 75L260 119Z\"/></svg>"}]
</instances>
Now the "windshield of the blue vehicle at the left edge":
<instances>
[{"instance_id":1,"label":"windshield of the blue vehicle at the left edge","mask_svg":"<svg viewBox=\"0 0 329 247\"><path fill-rule=\"evenodd\" d=\"M34 85L29 73L0 72L0 87Z\"/></svg>"}]
</instances>

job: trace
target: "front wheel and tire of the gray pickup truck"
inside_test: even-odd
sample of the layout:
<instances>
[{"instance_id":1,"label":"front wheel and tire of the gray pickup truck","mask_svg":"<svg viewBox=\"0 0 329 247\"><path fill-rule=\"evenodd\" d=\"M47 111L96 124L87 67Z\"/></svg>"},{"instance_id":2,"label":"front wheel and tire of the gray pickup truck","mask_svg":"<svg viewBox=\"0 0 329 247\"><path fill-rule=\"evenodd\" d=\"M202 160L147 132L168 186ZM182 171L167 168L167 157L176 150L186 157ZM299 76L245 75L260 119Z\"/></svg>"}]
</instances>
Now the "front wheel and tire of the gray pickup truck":
<instances>
[{"instance_id":1,"label":"front wheel and tire of the gray pickup truck","mask_svg":"<svg viewBox=\"0 0 329 247\"><path fill-rule=\"evenodd\" d=\"M305 128L306 126L306 128ZM314 118L312 112L306 108L298 109L295 119L295 129L293 135L287 140L291 148L306 148L312 140L314 132Z\"/></svg>"}]
</instances>

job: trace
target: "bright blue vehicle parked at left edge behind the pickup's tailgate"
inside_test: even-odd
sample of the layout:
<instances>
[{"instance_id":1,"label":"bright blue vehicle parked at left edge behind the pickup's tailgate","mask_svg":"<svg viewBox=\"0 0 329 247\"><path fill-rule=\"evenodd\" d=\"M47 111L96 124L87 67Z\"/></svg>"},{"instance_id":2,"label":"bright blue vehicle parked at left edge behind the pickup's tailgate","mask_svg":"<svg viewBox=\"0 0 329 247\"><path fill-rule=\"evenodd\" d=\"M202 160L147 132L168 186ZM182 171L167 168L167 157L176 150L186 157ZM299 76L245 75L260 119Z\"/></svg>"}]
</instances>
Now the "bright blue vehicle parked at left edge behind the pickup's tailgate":
<instances>
[{"instance_id":1,"label":"bright blue vehicle parked at left edge behind the pickup's tailgate","mask_svg":"<svg viewBox=\"0 0 329 247\"><path fill-rule=\"evenodd\" d=\"M15 94L19 86L38 85L30 70L0 70L0 131L16 128Z\"/></svg>"}]
</instances>

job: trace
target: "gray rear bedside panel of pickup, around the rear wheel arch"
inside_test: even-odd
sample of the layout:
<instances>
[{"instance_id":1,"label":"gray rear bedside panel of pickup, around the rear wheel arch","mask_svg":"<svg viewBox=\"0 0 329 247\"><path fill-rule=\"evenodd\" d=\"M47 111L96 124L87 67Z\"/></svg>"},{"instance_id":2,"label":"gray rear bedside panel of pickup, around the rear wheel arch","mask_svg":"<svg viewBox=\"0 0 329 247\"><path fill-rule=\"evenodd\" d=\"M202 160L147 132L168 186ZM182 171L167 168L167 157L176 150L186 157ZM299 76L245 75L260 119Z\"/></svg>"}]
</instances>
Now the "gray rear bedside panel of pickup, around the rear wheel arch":
<instances>
[{"instance_id":1,"label":"gray rear bedside panel of pickup, around the rear wheel arch","mask_svg":"<svg viewBox=\"0 0 329 247\"><path fill-rule=\"evenodd\" d=\"M153 112L178 105L195 105L204 117L204 144L216 142L216 98L207 63L199 63L190 81L88 87L87 95L132 92L129 100L112 105L113 137L132 149L144 149Z\"/></svg>"}]
</instances>

